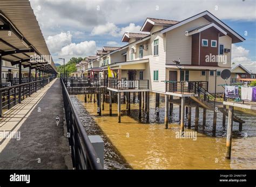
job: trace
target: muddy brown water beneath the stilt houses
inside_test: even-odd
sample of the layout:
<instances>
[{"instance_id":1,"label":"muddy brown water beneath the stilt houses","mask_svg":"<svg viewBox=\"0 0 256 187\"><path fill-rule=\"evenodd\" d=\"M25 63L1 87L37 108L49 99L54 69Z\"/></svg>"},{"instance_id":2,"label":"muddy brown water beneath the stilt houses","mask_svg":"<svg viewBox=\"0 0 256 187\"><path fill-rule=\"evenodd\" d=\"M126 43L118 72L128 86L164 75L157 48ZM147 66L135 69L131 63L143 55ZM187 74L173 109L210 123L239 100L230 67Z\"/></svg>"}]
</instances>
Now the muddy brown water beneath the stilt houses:
<instances>
[{"instance_id":1,"label":"muddy brown water beneath the stilt houses","mask_svg":"<svg viewBox=\"0 0 256 187\"><path fill-rule=\"evenodd\" d=\"M122 97L123 98L123 97ZM179 107L174 105L172 124L164 128L164 97L161 97L160 116L154 112L154 94L150 96L150 122L145 122L145 112L138 119L138 103L131 103L131 112L122 104L122 123L117 123L117 104L104 103L102 116L97 114L97 104L84 103L84 95L72 97L85 130L100 134L105 142L105 169L256 169L256 116L236 111L246 121L241 132L234 123L232 159L225 159L226 127L222 114L218 114L216 137L212 137L212 116L207 111L207 123L202 130L203 111L200 109L199 132L196 140L176 138L179 132ZM87 99L88 101L89 99ZM194 109L192 109L193 131ZM140 122L139 122L140 121Z\"/></svg>"}]
</instances>

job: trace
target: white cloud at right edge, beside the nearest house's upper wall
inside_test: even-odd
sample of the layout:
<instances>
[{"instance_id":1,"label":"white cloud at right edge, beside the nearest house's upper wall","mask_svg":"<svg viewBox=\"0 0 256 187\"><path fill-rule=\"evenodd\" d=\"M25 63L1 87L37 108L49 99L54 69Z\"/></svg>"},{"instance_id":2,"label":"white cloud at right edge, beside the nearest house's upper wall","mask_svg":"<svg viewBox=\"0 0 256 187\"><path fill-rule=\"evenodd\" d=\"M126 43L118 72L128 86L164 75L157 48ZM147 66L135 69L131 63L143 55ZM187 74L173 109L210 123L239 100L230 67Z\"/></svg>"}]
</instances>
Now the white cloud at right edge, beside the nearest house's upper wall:
<instances>
[{"instance_id":1,"label":"white cloud at right edge, beside the nearest house's upper wall","mask_svg":"<svg viewBox=\"0 0 256 187\"><path fill-rule=\"evenodd\" d=\"M249 57L250 51L245 49L242 46L236 46L235 44L232 44L232 63L234 62L235 65L242 64L242 66L245 66L247 69L252 70L256 72L256 61L252 61Z\"/></svg>"}]
</instances>

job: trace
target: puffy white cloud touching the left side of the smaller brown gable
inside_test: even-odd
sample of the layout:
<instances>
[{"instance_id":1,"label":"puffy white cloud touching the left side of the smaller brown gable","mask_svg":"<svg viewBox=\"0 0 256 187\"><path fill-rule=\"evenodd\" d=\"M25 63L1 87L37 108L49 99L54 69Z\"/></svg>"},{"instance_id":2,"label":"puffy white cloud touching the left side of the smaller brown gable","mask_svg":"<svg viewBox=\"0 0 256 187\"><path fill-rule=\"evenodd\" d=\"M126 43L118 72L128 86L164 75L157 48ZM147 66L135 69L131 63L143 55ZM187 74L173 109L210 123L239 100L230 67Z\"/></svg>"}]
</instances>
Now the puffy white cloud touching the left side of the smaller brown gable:
<instances>
[{"instance_id":1,"label":"puffy white cloud touching the left side of the smaller brown gable","mask_svg":"<svg viewBox=\"0 0 256 187\"><path fill-rule=\"evenodd\" d=\"M91 35L102 35L109 34L112 37L122 37L125 32L140 32L141 26L135 25L134 23L130 23L129 26L126 27L117 27L113 23L106 23L105 25L98 25L93 27Z\"/></svg>"}]
</instances>

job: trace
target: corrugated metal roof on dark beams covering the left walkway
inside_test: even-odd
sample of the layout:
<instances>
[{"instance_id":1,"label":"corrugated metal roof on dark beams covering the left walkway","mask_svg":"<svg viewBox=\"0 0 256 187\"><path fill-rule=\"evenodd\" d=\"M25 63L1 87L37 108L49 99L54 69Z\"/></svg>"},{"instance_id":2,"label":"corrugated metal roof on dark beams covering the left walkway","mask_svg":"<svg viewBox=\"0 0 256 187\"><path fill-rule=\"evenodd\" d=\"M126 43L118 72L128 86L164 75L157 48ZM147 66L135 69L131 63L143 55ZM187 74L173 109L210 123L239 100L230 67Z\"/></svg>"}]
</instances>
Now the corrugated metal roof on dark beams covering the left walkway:
<instances>
[{"instance_id":1,"label":"corrugated metal roof on dark beams covering the left walkway","mask_svg":"<svg viewBox=\"0 0 256 187\"><path fill-rule=\"evenodd\" d=\"M57 73L29 0L0 1L0 54L12 64Z\"/></svg>"}]
</instances>

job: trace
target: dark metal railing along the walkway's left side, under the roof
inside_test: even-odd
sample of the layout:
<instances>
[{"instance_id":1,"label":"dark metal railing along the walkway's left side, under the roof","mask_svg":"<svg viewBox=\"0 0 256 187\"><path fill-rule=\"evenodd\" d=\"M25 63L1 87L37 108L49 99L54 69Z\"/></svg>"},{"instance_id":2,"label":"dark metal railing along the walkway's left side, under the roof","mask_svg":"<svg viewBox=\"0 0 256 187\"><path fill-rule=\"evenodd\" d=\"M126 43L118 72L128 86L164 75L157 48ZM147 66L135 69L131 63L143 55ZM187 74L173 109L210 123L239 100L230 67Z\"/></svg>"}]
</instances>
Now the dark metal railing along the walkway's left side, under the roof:
<instances>
[{"instance_id":1,"label":"dark metal railing along the walkway's left side, under the roof","mask_svg":"<svg viewBox=\"0 0 256 187\"><path fill-rule=\"evenodd\" d=\"M53 78L50 81L52 80ZM48 80L39 80L0 88L0 116L2 117L4 110L9 110L17 103L21 103L22 100L43 88L47 83Z\"/></svg>"}]
</instances>

